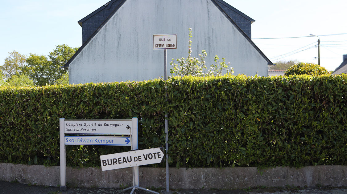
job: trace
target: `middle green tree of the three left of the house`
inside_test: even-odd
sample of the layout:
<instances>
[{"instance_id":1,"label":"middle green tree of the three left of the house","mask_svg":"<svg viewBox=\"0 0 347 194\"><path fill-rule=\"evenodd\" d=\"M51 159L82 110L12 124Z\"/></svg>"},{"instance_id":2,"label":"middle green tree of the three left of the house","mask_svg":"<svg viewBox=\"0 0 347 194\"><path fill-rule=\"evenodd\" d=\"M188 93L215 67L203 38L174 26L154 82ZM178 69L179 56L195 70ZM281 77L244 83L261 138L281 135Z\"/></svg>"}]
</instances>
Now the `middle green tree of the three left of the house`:
<instances>
[{"instance_id":1,"label":"middle green tree of the three left of the house","mask_svg":"<svg viewBox=\"0 0 347 194\"><path fill-rule=\"evenodd\" d=\"M36 86L52 85L56 82L55 68L52 61L49 61L44 55L30 53L26 59L27 65L23 68L23 74L29 76Z\"/></svg>"}]
</instances>

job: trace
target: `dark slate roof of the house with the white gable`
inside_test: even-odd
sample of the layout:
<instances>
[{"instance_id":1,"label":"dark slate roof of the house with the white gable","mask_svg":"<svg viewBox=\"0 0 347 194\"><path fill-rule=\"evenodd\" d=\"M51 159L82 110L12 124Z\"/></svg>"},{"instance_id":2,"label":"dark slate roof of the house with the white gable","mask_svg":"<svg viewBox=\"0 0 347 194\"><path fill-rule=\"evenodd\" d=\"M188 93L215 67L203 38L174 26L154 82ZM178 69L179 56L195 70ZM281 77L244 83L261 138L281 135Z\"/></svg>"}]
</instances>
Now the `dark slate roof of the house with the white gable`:
<instances>
[{"instance_id":1,"label":"dark slate roof of the house with the white gable","mask_svg":"<svg viewBox=\"0 0 347 194\"><path fill-rule=\"evenodd\" d=\"M99 30L109 21L109 19L118 11L118 9L123 5L126 0L111 0L105 5L101 6L99 9L96 9L88 16L78 21L78 24L83 28L85 22L88 23L88 19L95 17L93 24L88 29L82 29L82 34L85 34L83 38L83 44L78 49L78 51L71 57L71 59L64 65L64 68L68 68L71 61L83 50L86 44L99 32ZM268 64L273 64L265 54L254 44L251 40L251 26L247 26L245 21L253 23L255 20L243 14L241 11L230 6L223 0L211 0L211 2L229 19L230 23L236 27L236 29L247 39L249 43L258 51L263 58L268 62ZM234 21L233 18L236 20ZM239 23L239 24L238 24ZM240 27L240 26L241 27ZM244 30L243 30L243 29ZM246 34L247 32L247 34Z\"/></svg>"}]
</instances>

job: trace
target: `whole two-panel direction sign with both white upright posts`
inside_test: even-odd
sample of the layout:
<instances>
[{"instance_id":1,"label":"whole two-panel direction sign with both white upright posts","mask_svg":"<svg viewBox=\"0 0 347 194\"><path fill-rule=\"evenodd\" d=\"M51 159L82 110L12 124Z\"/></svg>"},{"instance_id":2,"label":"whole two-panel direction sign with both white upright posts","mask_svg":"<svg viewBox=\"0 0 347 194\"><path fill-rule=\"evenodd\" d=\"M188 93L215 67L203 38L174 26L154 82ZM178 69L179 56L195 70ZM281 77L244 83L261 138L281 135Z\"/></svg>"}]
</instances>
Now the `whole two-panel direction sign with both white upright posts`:
<instances>
[{"instance_id":1,"label":"whole two-panel direction sign with both white upright posts","mask_svg":"<svg viewBox=\"0 0 347 194\"><path fill-rule=\"evenodd\" d=\"M61 191L66 189L65 145L129 145L132 150L138 149L137 118L131 120L65 120L65 118L60 118L59 134ZM103 134L105 136L74 136L71 134ZM137 166L133 167L133 177L133 184L138 187Z\"/></svg>"}]
</instances>

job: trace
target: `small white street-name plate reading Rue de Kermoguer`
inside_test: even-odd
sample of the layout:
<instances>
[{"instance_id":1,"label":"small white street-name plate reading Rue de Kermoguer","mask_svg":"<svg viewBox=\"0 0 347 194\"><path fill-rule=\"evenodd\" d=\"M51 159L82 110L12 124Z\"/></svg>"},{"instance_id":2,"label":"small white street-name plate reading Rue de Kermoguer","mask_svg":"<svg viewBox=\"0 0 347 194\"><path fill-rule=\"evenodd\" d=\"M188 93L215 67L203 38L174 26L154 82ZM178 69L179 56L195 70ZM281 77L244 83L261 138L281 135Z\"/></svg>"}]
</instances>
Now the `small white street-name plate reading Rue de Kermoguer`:
<instances>
[{"instance_id":1,"label":"small white street-name plate reading Rue de Kermoguer","mask_svg":"<svg viewBox=\"0 0 347 194\"><path fill-rule=\"evenodd\" d=\"M153 49L177 49L177 34L153 35Z\"/></svg>"}]
</instances>

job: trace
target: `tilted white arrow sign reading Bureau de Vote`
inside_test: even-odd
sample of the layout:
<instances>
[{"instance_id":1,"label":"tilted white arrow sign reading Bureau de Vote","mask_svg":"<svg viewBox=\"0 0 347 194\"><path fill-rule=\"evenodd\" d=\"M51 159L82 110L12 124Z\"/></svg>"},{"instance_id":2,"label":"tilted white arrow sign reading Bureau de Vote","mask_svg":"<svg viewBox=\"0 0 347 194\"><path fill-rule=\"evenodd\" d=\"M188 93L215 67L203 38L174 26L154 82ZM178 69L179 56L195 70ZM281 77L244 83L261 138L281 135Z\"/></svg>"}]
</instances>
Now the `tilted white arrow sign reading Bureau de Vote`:
<instances>
[{"instance_id":1,"label":"tilted white arrow sign reading Bureau de Vote","mask_svg":"<svg viewBox=\"0 0 347 194\"><path fill-rule=\"evenodd\" d=\"M164 157L162 147L102 155L100 156L101 170L160 163Z\"/></svg>"}]
</instances>

